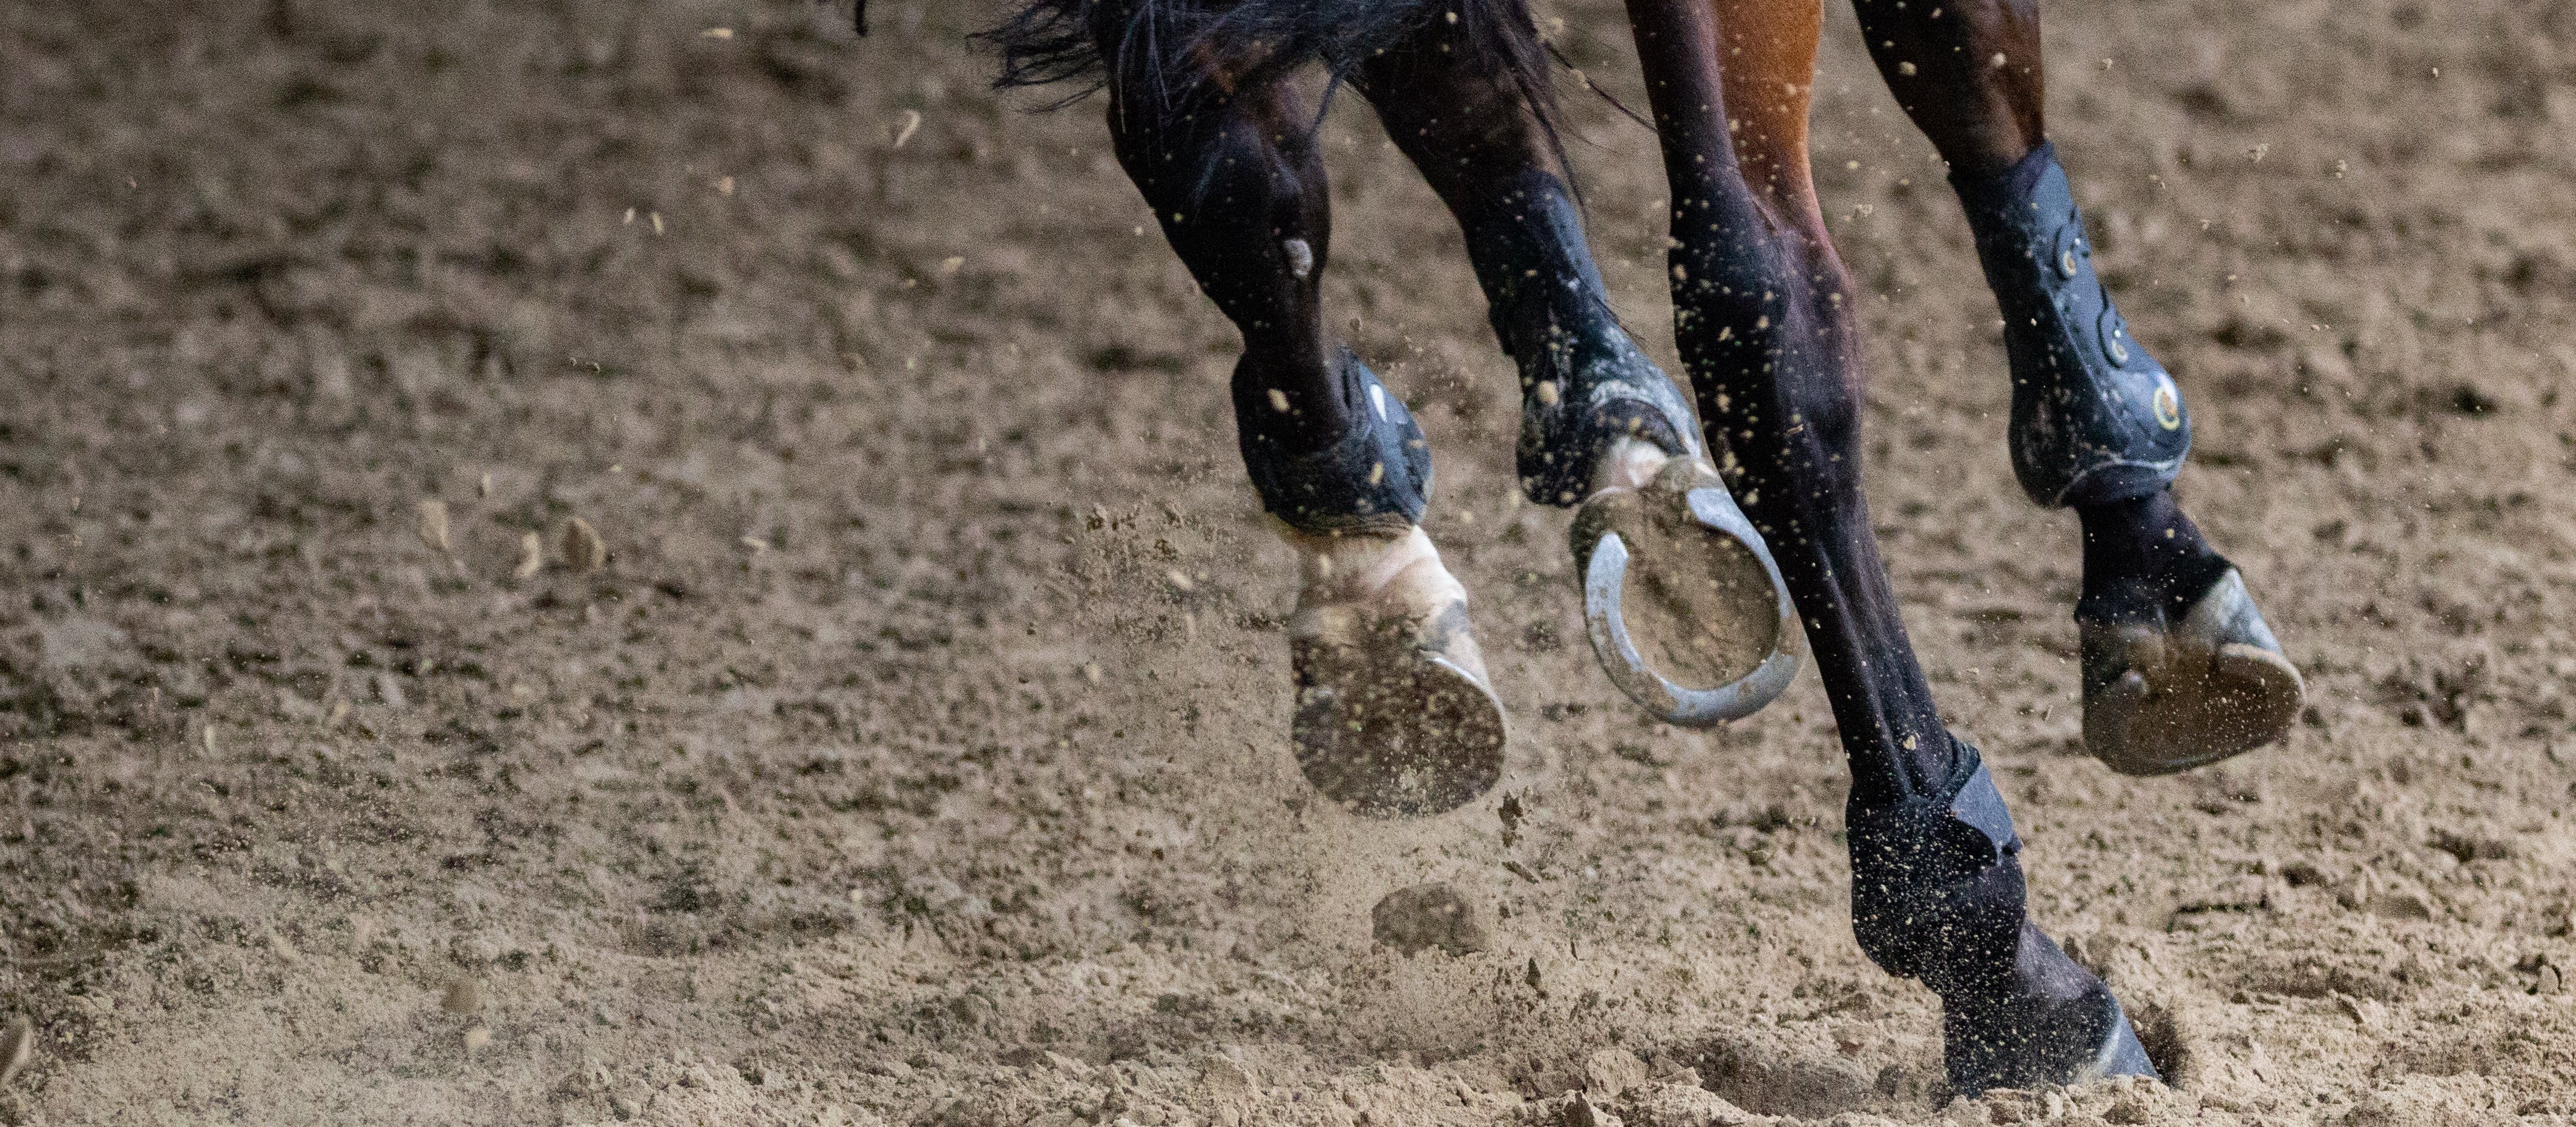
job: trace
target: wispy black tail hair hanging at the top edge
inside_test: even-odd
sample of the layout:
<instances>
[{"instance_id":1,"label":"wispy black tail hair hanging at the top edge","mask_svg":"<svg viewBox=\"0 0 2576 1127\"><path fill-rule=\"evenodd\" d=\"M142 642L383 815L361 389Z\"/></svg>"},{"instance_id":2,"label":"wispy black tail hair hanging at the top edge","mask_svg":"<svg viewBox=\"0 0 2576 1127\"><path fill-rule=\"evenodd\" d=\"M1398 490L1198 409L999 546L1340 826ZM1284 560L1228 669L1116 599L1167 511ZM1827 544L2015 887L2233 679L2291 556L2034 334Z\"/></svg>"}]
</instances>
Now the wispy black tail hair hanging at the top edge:
<instances>
[{"instance_id":1,"label":"wispy black tail hair hanging at the top edge","mask_svg":"<svg viewBox=\"0 0 2576 1127\"><path fill-rule=\"evenodd\" d=\"M1123 26L1108 26L1103 15L1118 10ZM1224 59L1236 87L1278 82L1314 62L1340 87L1363 62L1435 21L1455 26L1468 64L1510 77L1553 144L1556 85L1528 0L1030 0L976 39L1002 54L997 87L1077 82L1054 103L1069 105L1108 85L1110 67L1139 67L1146 95L1188 98L1198 93L1188 85L1193 72L1167 59L1198 51ZM1103 57L1103 41L1113 59Z\"/></svg>"}]
</instances>

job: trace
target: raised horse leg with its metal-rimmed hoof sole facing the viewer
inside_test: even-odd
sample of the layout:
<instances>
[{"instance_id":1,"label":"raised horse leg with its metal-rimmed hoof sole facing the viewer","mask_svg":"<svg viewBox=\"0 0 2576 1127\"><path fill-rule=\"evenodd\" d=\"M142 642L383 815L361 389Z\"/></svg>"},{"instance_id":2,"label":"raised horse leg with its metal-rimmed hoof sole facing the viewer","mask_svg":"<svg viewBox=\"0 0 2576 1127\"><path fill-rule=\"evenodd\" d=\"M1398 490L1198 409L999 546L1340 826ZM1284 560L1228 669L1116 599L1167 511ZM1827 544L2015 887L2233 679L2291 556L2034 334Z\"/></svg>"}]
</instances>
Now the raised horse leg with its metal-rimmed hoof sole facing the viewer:
<instances>
[{"instance_id":1,"label":"raised horse leg with its metal-rimmed hoof sole facing the viewer","mask_svg":"<svg viewBox=\"0 0 2576 1127\"><path fill-rule=\"evenodd\" d=\"M1520 481L1574 507L1595 654L1664 720L1749 715L1798 669L1762 535L1726 494L1680 389L1628 340L1574 193L1522 90L1471 26L1430 23L1358 85L1466 232L1502 350L1520 365Z\"/></svg>"}]
</instances>

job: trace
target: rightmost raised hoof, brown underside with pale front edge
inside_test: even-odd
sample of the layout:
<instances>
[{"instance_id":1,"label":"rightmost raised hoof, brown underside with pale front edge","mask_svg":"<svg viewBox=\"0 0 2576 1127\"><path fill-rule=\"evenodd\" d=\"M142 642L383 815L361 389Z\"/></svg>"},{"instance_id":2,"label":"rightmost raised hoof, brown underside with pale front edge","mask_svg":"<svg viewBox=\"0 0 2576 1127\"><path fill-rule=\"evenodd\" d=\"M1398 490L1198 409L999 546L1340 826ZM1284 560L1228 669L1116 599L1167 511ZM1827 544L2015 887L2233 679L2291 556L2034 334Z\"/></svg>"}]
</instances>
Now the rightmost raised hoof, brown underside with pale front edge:
<instances>
[{"instance_id":1,"label":"rightmost raised hoof, brown underside with pale front edge","mask_svg":"<svg viewBox=\"0 0 2576 1127\"><path fill-rule=\"evenodd\" d=\"M2081 625L2084 746L2123 774L2174 774L2277 741L2306 682L2228 569L2182 623Z\"/></svg>"}]
</instances>

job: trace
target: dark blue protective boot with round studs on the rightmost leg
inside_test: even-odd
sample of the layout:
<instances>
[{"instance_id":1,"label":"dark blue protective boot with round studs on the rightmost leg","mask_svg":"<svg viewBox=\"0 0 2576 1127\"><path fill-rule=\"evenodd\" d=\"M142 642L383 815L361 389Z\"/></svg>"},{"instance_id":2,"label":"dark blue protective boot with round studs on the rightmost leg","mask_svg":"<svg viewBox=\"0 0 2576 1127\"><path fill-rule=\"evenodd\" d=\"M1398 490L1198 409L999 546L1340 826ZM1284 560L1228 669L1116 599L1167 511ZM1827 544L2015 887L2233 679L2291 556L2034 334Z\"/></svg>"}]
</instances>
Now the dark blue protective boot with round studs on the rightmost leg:
<instances>
[{"instance_id":1,"label":"dark blue protective boot with round studs on the rightmost leg","mask_svg":"<svg viewBox=\"0 0 2576 1127\"><path fill-rule=\"evenodd\" d=\"M2128 334L2094 275L2092 239L2056 149L1999 178L1953 178L2004 314L2012 471L2038 504L2164 489L2192 448L2182 389Z\"/></svg>"}]
</instances>

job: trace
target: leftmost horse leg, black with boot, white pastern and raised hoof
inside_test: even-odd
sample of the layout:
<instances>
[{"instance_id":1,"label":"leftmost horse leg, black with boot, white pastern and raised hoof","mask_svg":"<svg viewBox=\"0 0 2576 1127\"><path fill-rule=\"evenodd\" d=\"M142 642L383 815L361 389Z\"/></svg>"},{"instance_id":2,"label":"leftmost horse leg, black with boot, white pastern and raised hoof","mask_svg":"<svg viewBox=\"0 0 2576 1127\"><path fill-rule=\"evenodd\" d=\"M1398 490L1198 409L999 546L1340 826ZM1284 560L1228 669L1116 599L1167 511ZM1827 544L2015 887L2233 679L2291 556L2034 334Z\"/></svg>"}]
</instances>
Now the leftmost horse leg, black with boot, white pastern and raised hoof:
<instances>
[{"instance_id":1,"label":"leftmost horse leg, black with boot, white pastern and raised hoof","mask_svg":"<svg viewBox=\"0 0 2576 1127\"><path fill-rule=\"evenodd\" d=\"M1118 160L1244 337L1236 440L1298 553L1298 767L1363 813L1455 808L1502 777L1502 705L1466 589L1422 533L1430 443L1401 399L1324 342L1329 211L1314 113L1285 82L1236 90L1208 59L1128 39L1133 13L1118 5L1092 15Z\"/></svg>"}]
</instances>

